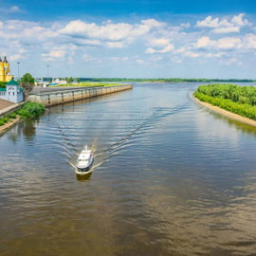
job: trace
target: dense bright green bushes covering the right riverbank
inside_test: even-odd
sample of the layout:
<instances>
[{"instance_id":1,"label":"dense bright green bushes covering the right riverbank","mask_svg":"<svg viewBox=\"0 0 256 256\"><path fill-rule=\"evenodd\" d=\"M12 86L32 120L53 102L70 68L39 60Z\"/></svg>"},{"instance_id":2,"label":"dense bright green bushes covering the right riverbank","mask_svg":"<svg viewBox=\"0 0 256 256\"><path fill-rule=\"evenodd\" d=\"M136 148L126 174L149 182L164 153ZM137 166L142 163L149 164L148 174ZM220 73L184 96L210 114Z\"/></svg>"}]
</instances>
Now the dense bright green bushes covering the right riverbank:
<instances>
[{"instance_id":1,"label":"dense bright green bushes covering the right riverbank","mask_svg":"<svg viewBox=\"0 0 256 256\"><path fill-rule=\"evenodd\" d=\"M256 88L254 86L201 85L193 95L200 101L209 102L248 119L256 119Z\"/></svg>"}]
</instances>

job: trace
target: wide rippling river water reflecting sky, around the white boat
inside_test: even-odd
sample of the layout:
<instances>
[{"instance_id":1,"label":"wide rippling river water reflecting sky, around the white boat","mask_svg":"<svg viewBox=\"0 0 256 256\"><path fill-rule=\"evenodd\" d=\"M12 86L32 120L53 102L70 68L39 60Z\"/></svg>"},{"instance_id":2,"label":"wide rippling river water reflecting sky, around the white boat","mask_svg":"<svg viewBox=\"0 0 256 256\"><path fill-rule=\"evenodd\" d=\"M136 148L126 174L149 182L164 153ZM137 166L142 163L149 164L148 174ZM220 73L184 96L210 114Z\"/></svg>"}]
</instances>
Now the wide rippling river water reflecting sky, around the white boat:
<instances>
[{"instance_id":1,"label":"wide rippling river water reflecting sky, around the white boat","mask_svg":"<svg viewBox=\"0 0 256 256\"><path fill-rule=\"evenodd\" d=\"M255 255L256 129L197 85L135 83L0 137L0 255Z\"/></svg>"}]
</instances>

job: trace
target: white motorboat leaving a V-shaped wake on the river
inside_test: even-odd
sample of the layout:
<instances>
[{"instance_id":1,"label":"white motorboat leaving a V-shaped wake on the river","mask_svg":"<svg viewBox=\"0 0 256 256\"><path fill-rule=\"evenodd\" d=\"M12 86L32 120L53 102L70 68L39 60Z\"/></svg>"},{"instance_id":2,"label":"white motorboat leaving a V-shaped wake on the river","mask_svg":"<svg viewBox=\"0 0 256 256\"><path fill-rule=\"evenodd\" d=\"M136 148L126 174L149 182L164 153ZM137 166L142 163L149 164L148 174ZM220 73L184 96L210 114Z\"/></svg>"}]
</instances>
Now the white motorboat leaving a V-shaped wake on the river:
<instances>
[{"instance_id":1,"label":"white motorboat leaving a V-shaped wake on the river","mask_svg":"<svg viewBox=\"0 0 256 256\"><path fill-rule=\"evenodd\" d=\"M90 169L93 165L93 160L94 157L92 151L89 150L86 145L78 157L76 174L89 174L91 172Z\"/></svg>"}]
</instances>

